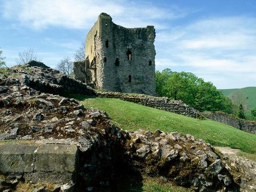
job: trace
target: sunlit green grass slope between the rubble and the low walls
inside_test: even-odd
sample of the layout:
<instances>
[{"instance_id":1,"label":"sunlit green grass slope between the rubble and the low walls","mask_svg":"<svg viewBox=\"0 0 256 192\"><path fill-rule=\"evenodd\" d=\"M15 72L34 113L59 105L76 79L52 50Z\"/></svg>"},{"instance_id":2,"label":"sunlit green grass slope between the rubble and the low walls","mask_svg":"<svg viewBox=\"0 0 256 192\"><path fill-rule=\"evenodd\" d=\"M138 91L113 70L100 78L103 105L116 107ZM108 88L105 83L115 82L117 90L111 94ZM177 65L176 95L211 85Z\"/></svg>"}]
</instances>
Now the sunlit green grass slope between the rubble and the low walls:
<instances>
[{"instance_id":1,"label":"sunlit green grass slope between the rubble and the low walls","mask_svg":"<svg viewBox=\"0 0 256 192\"><path fill-rule=\"evenodd\" d=\"M76 96L85 107L104 110L112 117L113 123L123 129L143 128L166 132L177 131L192 134L215 146L229 146L247 153L256 154L256 135L209 119L199 120L171 112L145 107L136 103L114 98L87 98Z\"/></svg>"}]
</instances>

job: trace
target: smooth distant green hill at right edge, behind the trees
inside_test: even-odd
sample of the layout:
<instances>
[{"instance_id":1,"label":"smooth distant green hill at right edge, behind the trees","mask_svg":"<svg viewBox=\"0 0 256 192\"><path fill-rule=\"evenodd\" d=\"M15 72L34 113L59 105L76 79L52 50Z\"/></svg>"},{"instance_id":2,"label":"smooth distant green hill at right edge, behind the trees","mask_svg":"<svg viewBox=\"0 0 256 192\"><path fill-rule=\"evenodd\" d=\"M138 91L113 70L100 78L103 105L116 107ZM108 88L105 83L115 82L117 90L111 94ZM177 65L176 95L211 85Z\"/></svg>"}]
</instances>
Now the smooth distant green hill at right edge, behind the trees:
<instances>
[{"instance_id":1,"label":"smooth distant green hill at right edge, behind the trees","mask_svg":"<svg viewBox=\"0 0 256 192\"><path fill-rule=\"evenodd\" d=\"M245 107L245 114L251 119L251 109L256 108L256 87L245 87L241 89L221 89L225 96L228 96L236 103L242 103Z\"/></svg>"}]
</instances>

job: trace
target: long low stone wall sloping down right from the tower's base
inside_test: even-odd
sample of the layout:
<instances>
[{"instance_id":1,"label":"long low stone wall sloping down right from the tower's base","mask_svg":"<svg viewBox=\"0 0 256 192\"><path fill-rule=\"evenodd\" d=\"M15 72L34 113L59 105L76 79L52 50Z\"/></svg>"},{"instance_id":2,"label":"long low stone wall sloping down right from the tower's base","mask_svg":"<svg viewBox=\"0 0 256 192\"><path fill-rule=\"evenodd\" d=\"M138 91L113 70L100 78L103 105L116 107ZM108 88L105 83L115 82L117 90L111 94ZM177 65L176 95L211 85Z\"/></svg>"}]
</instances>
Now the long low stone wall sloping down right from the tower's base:
<instances>
[{"instance_id":1,"label":"long low stone wall sloping down right from the tower's base","mask_svg":"<svg viewBox=\"0 0 256 192\"><path fill-rule=\"evenodd\" d=\"M98 92L98 97L118 98L124 101L139 103L144 106L153 107L167 112L174 112L194 118L203 118L203 115L196 109L189 107L181 100L170 100L168 97L154 97L147 95L129 95L119 92Z\"/></svg>"}]
</instances>

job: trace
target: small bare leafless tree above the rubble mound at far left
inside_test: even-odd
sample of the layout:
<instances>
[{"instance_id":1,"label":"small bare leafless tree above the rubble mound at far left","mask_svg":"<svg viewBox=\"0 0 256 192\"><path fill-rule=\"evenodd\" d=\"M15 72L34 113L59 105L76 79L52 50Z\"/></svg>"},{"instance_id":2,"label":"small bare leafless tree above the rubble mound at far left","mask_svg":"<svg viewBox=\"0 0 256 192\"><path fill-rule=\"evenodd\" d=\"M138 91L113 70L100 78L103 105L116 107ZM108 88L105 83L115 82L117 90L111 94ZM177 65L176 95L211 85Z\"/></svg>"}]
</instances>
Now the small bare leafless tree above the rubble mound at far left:
<instances>
[{"instance_id":1,"label":"small bare leafless tree above the rubble mound at far left","mask_svg":"<svg viewBox=\"0 0 256 192\"><path fill-rule=\"evenodd\" d=\"M31 60L40 61L40 59L37 58L36 51L33 48L28 48L23 52L19 52L19 58L16 58L16 63L22 65Z\"/></svg>"}]
</instances>

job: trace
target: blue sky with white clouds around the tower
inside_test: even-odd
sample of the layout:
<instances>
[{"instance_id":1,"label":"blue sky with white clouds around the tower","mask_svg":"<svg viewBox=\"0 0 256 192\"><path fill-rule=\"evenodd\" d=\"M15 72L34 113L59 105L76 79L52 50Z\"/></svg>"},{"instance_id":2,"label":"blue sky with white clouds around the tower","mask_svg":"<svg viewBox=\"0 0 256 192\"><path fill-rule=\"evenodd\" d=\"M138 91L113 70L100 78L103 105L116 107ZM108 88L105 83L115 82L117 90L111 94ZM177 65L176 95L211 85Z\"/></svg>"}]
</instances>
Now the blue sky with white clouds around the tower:
<instances>
[{"instance_id":1,"label":"blue sky with white clouds around the tower","mask_svg":"<svg viewBox=\"0 0 256 192\"><path fill-rule=\"evenodd\" d=\"M219 89L256 86L256 0L0 0L6 63L27 48L51 67L72 58L101 12L124 27L155 26L156 70Z\"/></svg>"}]
</instances>

